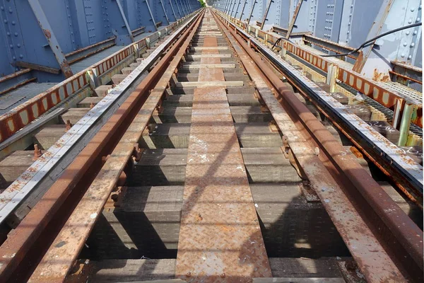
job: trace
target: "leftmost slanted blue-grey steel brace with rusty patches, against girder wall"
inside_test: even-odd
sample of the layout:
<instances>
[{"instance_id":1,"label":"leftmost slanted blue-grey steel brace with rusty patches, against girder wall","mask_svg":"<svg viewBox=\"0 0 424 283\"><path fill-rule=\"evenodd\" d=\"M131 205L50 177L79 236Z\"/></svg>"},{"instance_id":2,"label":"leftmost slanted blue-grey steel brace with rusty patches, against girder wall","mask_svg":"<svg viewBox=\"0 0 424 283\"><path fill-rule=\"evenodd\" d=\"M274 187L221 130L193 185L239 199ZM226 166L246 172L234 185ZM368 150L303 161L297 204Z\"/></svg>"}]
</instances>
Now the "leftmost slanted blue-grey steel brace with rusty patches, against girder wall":
<instances>
[{"instance_id":1,"label":"leftmost slanted blue-grey steel brace with rusty patches, against girder wall","mask_svg":"<svg viewBox=\"0 0 424 283\"><path fill-rule=\"evenodd\" d=\"M57 41L56 36L54 36L52 27L50 26L50 23L47 20L44 11L42 11L40 2L38 0L28 0L28 3L30 4L31 9L33 10L35 18L37 18L37 22L40 25L42 33L44 33L47 42L49 43L50 49L52 50L54 57L56 57L57 63L59 63L59 67L64 73L65 78L73 76L71 67L69 66L68 61L66 60L64 52L61 51L61 47L59 45L59 42Z\"/></svg>"}]
</instances>

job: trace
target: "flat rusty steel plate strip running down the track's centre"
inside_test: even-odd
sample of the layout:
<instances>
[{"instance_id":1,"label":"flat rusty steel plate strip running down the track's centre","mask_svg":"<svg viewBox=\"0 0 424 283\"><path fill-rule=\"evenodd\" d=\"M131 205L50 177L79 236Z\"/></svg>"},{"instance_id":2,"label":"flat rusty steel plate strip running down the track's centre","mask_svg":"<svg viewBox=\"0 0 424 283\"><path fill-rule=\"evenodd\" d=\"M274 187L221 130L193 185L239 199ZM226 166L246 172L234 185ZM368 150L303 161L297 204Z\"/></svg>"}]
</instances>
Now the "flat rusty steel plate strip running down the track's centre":
<instances>
[{"instance_id":1,"label":"flat rusty steel plate strip running down the track's centre","mask_svg":"<svg viewBox=\"0 0 424 283\"><path fill-rule=\"evenodd\" d=\"M216 45L215 36L205 37L205 47ZM219 63L201 58L201 64ZM199 70L199 81L220 80L222 69ZM187 282L271 277L224 87L194 90L176 276Z\"/></svg>"}]
</instances>

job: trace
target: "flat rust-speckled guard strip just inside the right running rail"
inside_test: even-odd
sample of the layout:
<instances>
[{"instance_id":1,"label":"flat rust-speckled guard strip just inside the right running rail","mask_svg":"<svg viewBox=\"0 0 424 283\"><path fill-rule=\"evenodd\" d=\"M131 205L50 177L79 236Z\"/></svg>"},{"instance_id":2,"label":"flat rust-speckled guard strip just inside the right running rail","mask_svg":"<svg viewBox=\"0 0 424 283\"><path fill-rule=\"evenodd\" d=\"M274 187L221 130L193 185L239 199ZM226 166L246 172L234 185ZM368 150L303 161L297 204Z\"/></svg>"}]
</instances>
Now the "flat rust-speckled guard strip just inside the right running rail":
<instances>
[{"instance_id":1,"label":"flat rust-speckled guard strip just inside the right running rail","mask_svg":"<svg viewBox=\"0 0 424 283\"><path fill-rule=\"evenodd\" d=\"M221 26L223 26L222 22ZM275 78L267 76L264 69L265 66L257 64L260 60L258 56L253 57L254 52L249 52L252 50L249 50L247 44L242 42L240 38L236 38L237 35L233 30L225 31L225 33L230 34L228 37L232 37L230 42L237 51L247 73L254 81L259 95L281 129L283 139L288 140L288 145L293 151L295 158L300 163L305 175L307 175L311 186L317 192L320 200L322 200L336 229L341 234L346 246L351 250L353 258L358 262L358 266L368 282L385 282L388 279L404 282L405 279L401 272L372 234L372 231L368 229L353 204L346 197L341 186L331 176L331 172L319 160L314 151L315 145L310 142L312 134L305 129L302 123L293 122L299 120L298 113L293 112L293 110L285 110L288 105L283 103L283 93L281 91L278 91L275 95L271 91L271 88L279 83L276 83ZM266 83L266 79L269 80L268 83ZM281 90L281 88L278 88L278 90ZM289 91L288 88L284 90L284 92L287 91ZM290 115L288 112L290 112ZM293 116L295 116L294 119ZM343 203L343 206L340 205L341 203ZM370 246L373 247L372 252L369 250Z\"/></svg>"}]
</instances>

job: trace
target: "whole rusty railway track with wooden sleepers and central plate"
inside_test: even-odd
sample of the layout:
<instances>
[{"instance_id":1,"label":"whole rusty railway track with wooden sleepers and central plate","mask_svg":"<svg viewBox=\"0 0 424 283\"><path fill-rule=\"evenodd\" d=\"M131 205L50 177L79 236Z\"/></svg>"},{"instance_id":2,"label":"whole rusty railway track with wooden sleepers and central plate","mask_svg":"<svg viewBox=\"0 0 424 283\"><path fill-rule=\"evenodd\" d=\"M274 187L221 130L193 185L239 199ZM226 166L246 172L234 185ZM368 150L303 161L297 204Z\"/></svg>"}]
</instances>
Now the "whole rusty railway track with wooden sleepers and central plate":
<instances>
[{"instance_id":1,"label":"whole rusty railway track with wooden sleepers and central plate","mask_svg":"<svg viewBox=\"0 0 424 283\"><path fill-rule=\"evenodd\" d=\"M1 282L423 279L420 209L228 26L207 8L158 47L8 233Z\"/></svg>"}]
</instances>

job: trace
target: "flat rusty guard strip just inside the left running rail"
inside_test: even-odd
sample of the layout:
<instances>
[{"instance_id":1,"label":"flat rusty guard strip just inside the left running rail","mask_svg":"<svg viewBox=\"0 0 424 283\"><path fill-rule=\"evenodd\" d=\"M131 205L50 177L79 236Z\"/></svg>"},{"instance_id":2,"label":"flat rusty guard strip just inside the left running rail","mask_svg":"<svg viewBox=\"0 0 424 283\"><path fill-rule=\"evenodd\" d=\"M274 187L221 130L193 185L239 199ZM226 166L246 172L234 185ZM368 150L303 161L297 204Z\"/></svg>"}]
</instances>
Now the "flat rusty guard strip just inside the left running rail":
<instances>
[{"instance_id":1,"label":"flat rusty guard strip just inside the left running rail","mask_svg":"<svg viewBox=\"0 0 424 283\"><path fill-rule=\"evenodd\" d=\"M134 120L132 120L128 129L126 129L126 132L119 140L119 143L112 151L112 154L107 158L105 165L90 187L88 187L88 190L76 206L76 209L73 210L49 250L47 250L47 253L30 277L30 282L57 282L66 277L79 251L83 248L84 243L86 243L86 239L93 229L95 221L100 216L107 197L110 196L110 192L116 186L124 167L130 161L131 155L134 154L135 146L141 138L143 130L160 102L167 88L168 81L172 78L172 74L174 74L175 69L178 67L180 60L189 46L189 41L184 41L186 39L191 40L196 27L199 25L200 18L201 15L179 37L179 40L165 54L158 66L155 67L156 70L160 71L152 71L149 74L148 79L154 79L159 82L150 95L148 95L141 110L136 114ZM170 62L171 59L172 61ZM170 64L168 66L169 62ZM143 88L142 91L137 90L136 93L139 96L143 96L147 91L148 89ZM126 101L123 106L128 108L129 103L131 101Z\"/></svg>"}]
</instances>

